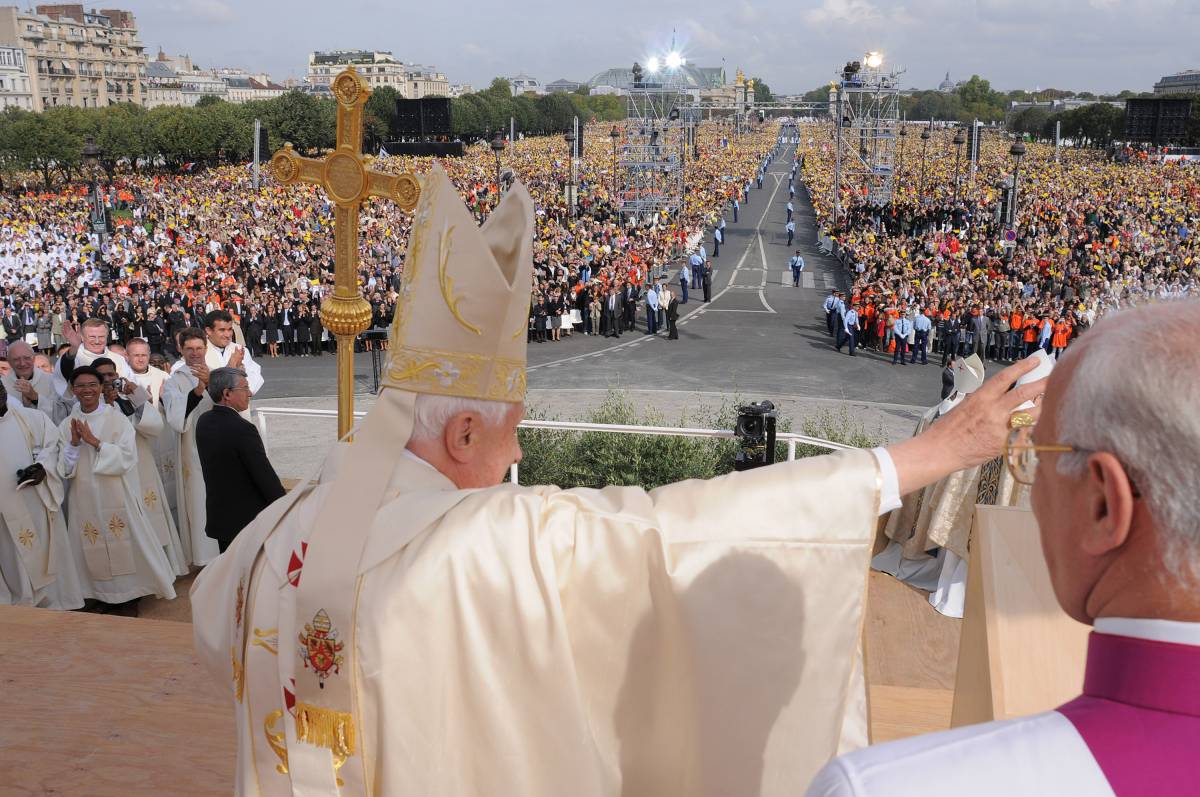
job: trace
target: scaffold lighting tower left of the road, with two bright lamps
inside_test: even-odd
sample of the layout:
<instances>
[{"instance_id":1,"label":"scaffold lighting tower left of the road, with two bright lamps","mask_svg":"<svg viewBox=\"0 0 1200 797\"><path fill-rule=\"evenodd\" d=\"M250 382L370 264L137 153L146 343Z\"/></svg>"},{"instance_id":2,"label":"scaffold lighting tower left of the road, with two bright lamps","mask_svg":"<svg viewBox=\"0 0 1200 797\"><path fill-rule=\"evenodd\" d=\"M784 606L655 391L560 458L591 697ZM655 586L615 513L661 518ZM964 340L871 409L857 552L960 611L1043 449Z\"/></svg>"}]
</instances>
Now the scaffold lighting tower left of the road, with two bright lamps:
<instances>
[{"instance_id":1,"label":"scaffold lighting tower left of the road, with two bright lamps","mask_svg":"<svg viewBox=\"0 0 1200 797\"><path fill-rule=\"evenodd\" d=\"M671 52L634 64L625 126L617 152L623 217L649 221L684 209L684 164L695 146L698 92L684 82L684 59Z\"/></svg>"}]
</instances>

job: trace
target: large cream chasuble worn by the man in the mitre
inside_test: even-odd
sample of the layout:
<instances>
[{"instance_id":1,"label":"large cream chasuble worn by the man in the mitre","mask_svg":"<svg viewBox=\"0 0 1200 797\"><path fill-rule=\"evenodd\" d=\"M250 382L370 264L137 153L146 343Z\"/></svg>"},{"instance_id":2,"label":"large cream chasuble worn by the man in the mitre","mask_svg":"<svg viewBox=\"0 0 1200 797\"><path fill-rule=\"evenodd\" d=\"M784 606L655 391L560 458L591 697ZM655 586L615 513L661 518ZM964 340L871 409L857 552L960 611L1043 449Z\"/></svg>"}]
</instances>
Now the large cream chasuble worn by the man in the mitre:
<instances>
[{"instance_id":1,"label":"large cream chasuble worn by the man in the mitre","mask_svg":"<svg viewBox=\"0 0 1200 797\"><path fill-rule=\"evenodd\" d=\"M311 616L306 551L346 529L314 528L335 485L300 487L192 589L238 793L800 793L866 743L878 485L868 451L650 492L457 491L398 457ZM341 715L298 703L317 685L349 688Z\"/></svg>"}]
</instances>

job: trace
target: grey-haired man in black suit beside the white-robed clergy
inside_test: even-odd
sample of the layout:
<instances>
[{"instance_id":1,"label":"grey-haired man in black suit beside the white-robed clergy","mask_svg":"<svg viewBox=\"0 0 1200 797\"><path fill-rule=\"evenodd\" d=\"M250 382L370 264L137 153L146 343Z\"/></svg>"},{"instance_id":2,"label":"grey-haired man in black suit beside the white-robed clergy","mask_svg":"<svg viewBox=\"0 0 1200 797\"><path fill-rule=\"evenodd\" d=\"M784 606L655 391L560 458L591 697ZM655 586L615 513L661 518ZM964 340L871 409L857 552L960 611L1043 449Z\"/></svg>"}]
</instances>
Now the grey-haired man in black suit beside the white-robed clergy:
<instances>
[{"instance_id":1,"label":"grey-haired man in black suit beside the white-robed clergy","mask_svg":"<svg viewBox=\"0 0 1200 797\"><path fill-rule=\"evenodd\" d=\"M250 406L246 372L214 368L208 390L215 407L196 421L196 445L204 471L204 532L223 552L258 513L283 496L283 485L258 429L240 415Z\"/></svg>"}]
</instances>

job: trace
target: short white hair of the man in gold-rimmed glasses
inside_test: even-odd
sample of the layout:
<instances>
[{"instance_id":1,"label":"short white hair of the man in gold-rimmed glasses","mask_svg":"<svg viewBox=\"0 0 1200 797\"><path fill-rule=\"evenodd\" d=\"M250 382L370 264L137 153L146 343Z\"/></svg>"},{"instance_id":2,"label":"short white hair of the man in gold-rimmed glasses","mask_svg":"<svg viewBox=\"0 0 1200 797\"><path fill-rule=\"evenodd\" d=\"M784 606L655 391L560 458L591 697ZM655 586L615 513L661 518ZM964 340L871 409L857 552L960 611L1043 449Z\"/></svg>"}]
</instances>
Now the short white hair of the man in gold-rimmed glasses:
<instances>
[{"instance_id":1,"label":"short white hair of the man in gold-rimmed glasses","mask_svg":"<svg viewBox=\"0 0 1200 797\"><path fill-rule=\"evenodd\" d=\"M1194 300L1106 316L1063 355L1075 370L1057 415L1058 442L1121 460L1162 535L1169 574L1184 583L1200 582L1198 341ZM1060 455L1057 467L1078 478L1087 453Z\"/></svg>"}]
</instances>

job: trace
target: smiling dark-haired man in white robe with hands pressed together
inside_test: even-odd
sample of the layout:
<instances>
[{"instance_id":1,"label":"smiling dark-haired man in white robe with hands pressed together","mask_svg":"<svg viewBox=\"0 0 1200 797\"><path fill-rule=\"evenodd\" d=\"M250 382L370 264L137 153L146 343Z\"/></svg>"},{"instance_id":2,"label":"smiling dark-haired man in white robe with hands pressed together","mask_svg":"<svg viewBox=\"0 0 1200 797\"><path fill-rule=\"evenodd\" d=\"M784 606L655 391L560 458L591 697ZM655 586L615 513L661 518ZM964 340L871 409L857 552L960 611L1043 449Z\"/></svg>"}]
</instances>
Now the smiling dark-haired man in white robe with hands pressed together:
<instances>
[{"instance_id":1,"label":"smiling dark-haired man in white robe with hands pressed together","mask_svg":"<svg viewBox=\"0 0 1200 797\"><path fill-rule=\"evenodd\" d=\"M59 475L70 480L67 531L83 546L90 593L108 604L174 598L175 576L142 504L137 435L101 396L91 366L72 372L78 403L59 426Z\"/></svg>"}]
</instances>

